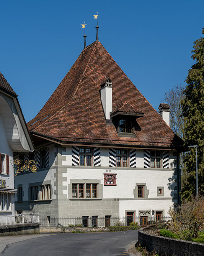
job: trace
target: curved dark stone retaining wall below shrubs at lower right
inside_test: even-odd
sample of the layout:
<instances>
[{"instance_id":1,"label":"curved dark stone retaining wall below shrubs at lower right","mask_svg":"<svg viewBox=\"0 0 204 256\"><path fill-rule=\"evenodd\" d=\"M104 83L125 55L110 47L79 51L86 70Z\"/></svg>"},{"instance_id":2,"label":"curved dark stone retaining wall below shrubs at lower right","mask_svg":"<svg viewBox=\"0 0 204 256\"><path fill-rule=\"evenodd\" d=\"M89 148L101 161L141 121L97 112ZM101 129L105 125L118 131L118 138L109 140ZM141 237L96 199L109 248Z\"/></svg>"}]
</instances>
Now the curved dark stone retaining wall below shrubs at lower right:
<instances>
[{"instance_id":1,"label":"curved dark stone retaining wall below shrubs at lower right","mask_svg":"<svg viewBox=\"0 0 204 256\"><path fill-rule=\"evenodd\" d=\"M157 251L167 256L204 256L204 244L183 241L146 233L148 228L140 228L138 242L148 251Z\"/></svg>"}]
</instances>

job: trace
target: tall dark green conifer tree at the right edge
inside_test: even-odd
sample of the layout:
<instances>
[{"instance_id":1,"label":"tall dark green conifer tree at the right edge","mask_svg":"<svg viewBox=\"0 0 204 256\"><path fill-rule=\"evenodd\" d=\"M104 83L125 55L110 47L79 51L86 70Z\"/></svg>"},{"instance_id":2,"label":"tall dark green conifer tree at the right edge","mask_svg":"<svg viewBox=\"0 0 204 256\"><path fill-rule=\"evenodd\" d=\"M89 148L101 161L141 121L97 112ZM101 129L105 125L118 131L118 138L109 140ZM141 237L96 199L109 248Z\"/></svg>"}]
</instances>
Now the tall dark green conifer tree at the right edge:
<instances>
[{"instance_id":1,"label":"tall dark green conifer tree at the right edge","mask_svg":"<svg viewBox=\"0 0 204 256\"><path fill-rule=\"evenodd\" d=\"M202 29L204 35L204 28ZM196 40L192 58L196 63L189 69L182 101L184 117L184 141L186 145L198 145L198 192L204 195L204 37ZM196 195L196 149L184 157L186 182L181 198Z\"/></svg>"}]
</instances>

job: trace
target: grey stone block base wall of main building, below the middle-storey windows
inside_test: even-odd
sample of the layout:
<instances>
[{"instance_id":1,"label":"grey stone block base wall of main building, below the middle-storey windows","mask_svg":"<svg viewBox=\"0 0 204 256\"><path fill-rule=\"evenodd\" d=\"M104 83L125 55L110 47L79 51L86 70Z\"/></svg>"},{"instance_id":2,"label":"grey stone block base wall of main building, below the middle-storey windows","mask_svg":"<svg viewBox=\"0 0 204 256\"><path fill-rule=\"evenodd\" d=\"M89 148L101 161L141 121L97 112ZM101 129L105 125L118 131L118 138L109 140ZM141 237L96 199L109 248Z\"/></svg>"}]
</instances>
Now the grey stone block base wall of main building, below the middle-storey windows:
<instances>
[{"instance_id":1,"label":"grey stone block base wall of main building, below the middle-storey windows","mask_svg":"<svg viewBox=\"0 0 204 256\"><path fill-rule=\"evenodd\" d=\"M119 201L113 199L102 200L51 200L51 201L23 201L15 202L15 210L23 213L31 213L29 205L32 206L32 212L38 213L40 217L82 217L98 216L112 217L119 216Z\"/></svg>"}]
</instances>

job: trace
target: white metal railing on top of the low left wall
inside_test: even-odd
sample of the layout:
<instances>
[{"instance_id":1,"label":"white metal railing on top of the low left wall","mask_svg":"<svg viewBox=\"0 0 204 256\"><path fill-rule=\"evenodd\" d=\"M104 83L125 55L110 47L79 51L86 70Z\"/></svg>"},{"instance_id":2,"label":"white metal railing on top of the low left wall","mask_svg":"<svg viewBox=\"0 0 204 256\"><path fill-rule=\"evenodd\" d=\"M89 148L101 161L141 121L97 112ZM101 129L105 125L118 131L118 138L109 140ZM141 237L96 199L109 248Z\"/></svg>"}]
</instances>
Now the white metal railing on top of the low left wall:
<instances>
[{"instance_id":1,"label":"white metal railing on top of the low left wall","mask_svg":"<svg viewBox=\"0 0 204 256\"><path fill-rule=\"evenodd\" d=\"M0 226L16 225L27 223L40 223L38 214L15 214L15 215L0 215Z\"/></svg>"}]
</instances>

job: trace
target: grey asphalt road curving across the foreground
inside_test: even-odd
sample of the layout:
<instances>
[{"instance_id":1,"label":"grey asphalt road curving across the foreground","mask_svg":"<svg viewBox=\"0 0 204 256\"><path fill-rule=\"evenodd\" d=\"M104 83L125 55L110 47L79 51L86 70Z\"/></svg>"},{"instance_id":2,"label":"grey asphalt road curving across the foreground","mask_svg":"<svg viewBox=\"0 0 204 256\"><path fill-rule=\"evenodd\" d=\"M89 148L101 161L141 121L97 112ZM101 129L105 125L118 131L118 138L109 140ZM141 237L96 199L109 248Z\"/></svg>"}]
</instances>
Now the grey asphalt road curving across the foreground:
<instances>
[{"instance_id":1,"label":"grey asphalt road curving across the foreground","mask_svg":"<svg viewBox=\"0 0 204 256\"><path fill-rule=\"evenodd\" d=\"M0 254L6 256L130 255L127 253L128 244L134 243L137 239L137 230L10 236L9 239L0 238L0 249L2 245L4 247Z\"/></svg>"}]
</instances>

